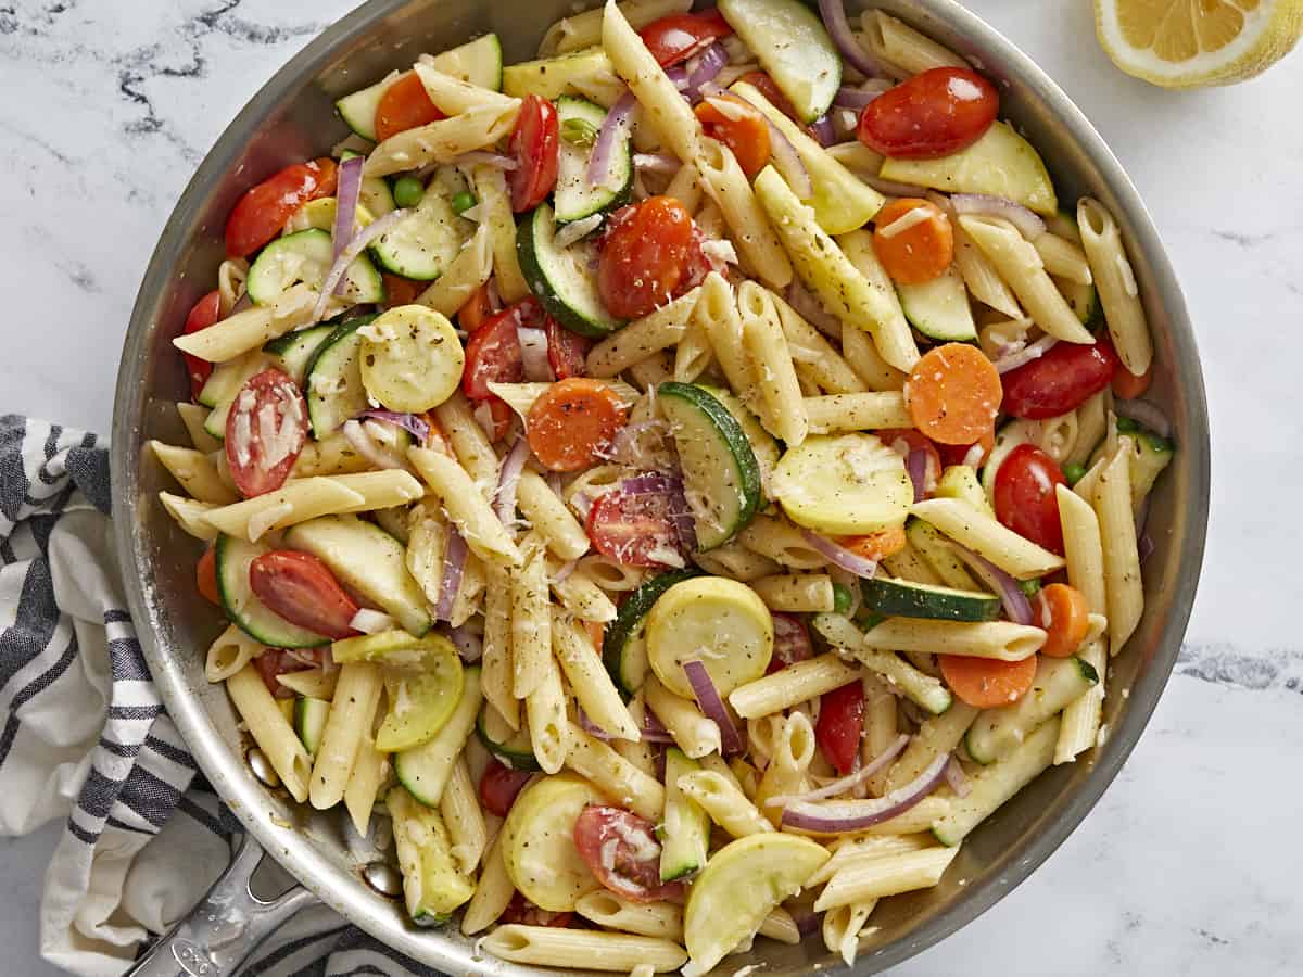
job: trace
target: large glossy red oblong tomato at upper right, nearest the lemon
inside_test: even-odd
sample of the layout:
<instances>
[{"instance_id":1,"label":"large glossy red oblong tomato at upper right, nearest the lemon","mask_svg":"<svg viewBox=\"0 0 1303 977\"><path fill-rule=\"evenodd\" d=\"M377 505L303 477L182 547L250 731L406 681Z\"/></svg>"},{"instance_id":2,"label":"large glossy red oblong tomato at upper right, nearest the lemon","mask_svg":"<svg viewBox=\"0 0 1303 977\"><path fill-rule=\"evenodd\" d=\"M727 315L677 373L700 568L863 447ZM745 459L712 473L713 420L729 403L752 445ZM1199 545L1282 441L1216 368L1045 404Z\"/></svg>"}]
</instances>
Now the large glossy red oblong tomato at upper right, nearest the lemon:
<instances>
[{"instance_id":1,"label":"large glossy red oblong tomato at upper right, nearest the lemon","mask_svg":"<svg viewBox=\"0 0 1303 977\"><path fill-rule=\"evenodd\" d=\"M933 68L860 113L860 142L896 159L934 159L980 139L999 113L995 86L967 68Z\"/></svg>"}]
</instances>

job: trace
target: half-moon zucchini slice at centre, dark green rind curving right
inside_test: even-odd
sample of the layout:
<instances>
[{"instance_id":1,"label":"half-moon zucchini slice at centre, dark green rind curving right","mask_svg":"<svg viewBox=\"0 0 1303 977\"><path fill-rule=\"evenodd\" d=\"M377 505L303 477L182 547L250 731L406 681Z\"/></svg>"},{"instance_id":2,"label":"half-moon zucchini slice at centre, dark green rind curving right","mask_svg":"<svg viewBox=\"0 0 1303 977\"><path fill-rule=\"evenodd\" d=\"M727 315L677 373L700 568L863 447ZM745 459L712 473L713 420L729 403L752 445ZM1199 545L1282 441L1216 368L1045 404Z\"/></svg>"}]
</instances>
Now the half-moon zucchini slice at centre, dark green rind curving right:
<instances>
[{"instance_id":1,"label":"half-moon zucchini slice at centre, dark green rind curving right","mask_svg":"<svg viewBox=\"0 0 1303 977\"><path fill-rule=\"evenodd\" d=\"M713 550L737 535L760 509L756 453L728 408L704 387L662 383L657 399L679 449L697 548Z\"/></svg>"}]
</instances>

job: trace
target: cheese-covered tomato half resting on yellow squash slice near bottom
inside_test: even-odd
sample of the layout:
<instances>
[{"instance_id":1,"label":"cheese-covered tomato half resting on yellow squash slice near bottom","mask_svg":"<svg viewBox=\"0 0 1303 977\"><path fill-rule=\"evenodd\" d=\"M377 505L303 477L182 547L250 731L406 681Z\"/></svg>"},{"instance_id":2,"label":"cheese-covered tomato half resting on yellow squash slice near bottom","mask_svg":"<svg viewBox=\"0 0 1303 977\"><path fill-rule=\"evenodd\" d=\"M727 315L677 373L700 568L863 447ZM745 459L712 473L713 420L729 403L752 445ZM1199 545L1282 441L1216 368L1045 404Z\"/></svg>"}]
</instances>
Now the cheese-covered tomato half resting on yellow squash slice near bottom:
<instances>
[{"instance_id":1,"label":"cheese-covered tomato half resting on yellow squash slice near bottom","mask_svg":"<svg viewBox=\"0 0 1303 977\"><path fill-rule=\"evenodd\" d=\"M598 882L632 903L683 895L681 882L661 882L661 843L652 822L632 812L598 804L584 808L575 819L575 847Z\"/></svg>"}]
</instances>

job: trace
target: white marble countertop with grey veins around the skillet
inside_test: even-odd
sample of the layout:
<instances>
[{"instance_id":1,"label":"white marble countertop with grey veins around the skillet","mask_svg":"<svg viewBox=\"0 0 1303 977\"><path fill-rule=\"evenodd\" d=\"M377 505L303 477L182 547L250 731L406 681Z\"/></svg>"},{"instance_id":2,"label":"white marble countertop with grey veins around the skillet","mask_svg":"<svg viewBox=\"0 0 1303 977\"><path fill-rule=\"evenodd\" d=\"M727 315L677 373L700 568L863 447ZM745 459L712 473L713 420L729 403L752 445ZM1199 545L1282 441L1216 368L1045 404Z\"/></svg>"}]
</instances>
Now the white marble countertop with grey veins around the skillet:
<instances>
[{"instance_id":1,"label":"white marble countertop with grey veins around the skillet","mask_svg":"<svg viewBox=\"0 0 1303 977\"><path fill-rule=\"evenodd\" d=\"M352 0L0 4L0 412L103 431L154 242L203 152ZM899 974L1298 973L1303 895L1303 53L1231 89L1118 73L1088 0L972 0L1080 106L1147 201L1186 290L1213 414L1213 513L1177 675L1085 823L999 905ZM27 317L34 317L29 319ZM1294 419L1289 419L1293 417ZM1293 448L1290 446L1294 446ZM1263 482L1270 495L1264 498ZM1269 762L1270 761L1270 762ZM0 840L0 944L36 959L56 836ZM1287 839L1287 836L1286 836Z\"/></svg>"}]
</instances>

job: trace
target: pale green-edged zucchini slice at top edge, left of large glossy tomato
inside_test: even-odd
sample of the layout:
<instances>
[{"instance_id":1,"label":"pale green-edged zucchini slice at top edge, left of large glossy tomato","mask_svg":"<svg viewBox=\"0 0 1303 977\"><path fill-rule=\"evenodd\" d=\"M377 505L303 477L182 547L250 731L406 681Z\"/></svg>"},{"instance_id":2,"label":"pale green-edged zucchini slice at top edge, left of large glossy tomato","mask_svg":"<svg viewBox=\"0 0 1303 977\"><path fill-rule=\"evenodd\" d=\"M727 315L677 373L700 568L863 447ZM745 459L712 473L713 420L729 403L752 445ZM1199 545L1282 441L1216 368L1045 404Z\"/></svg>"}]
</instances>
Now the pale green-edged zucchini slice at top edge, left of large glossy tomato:
<instances>
[{"instance_id":1,"label":"pale green-edged zucchini slice at top edge, left of large glossy tomato","mask_svg":"<svg viewBox=\"0 0 1303 977\"><path fill-rule=\"evenodd\" d=\"M719 0L719 13L803 122L827 112L842 85L842 56L818 13L800 0Z\"/></svg>"}]
</instances>

